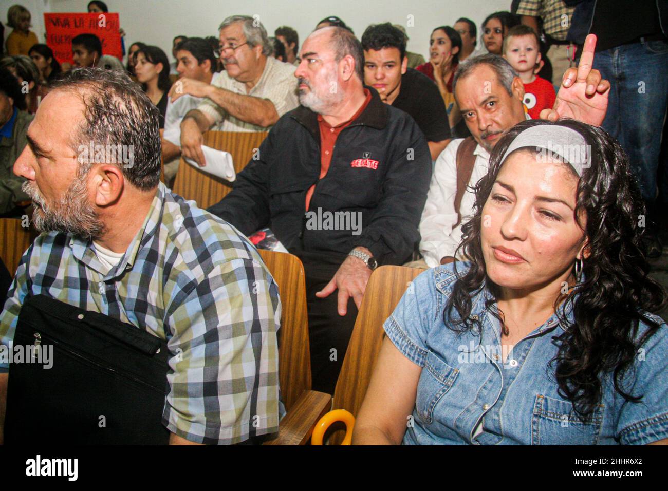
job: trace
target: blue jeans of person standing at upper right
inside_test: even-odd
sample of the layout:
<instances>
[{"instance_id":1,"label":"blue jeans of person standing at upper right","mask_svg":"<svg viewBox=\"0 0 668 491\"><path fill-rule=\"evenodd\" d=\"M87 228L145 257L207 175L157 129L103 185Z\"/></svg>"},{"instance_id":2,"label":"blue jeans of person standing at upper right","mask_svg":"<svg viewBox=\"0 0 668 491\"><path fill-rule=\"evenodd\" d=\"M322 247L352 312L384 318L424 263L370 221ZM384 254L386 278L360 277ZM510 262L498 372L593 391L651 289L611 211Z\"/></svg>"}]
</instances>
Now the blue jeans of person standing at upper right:
<instances>
[{"instance_id":1,"label":"blue jeans of person standing at upper right","mask_svg":"<svg viewBox=\"0 0 668 491\"><path fill-rule=\"evenodd\" d=\"M596 53L611 83L603 129L624 147L645 202L657 196L661 130L668 106L668 42L643 41Z\"/></svg>"}]
</instances>

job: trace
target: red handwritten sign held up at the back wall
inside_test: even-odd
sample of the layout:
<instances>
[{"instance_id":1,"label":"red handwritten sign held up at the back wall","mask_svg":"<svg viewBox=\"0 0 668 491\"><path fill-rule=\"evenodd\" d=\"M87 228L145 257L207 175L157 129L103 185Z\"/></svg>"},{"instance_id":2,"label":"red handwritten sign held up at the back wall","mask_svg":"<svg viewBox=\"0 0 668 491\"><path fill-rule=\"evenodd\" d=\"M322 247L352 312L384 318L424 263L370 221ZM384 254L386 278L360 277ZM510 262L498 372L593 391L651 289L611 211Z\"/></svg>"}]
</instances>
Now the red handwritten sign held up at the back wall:
<instances>
[{"instance_id":1,"label":"red handwritten sign held up at the back wall","mask_svg":"<svg viewBox=\"0 0 668 491\"><path fill-rule=\"evenodd\" d=\"M46 43L59 63L72 62L72 38L95 34L102 41L102 54L123 59L118 13L45 13Z\"/></svg>"}]
</instances>

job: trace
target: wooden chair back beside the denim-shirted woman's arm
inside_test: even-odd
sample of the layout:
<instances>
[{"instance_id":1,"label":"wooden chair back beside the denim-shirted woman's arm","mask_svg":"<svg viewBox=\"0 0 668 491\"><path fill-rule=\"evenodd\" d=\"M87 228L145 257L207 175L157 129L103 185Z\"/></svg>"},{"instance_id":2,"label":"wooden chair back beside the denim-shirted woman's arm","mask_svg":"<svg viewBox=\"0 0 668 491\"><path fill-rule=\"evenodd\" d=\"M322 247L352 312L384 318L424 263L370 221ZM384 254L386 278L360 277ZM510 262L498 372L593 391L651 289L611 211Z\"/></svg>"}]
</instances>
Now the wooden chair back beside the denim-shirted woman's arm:
<instances>
[{"instance_id":1,"label":"wooden chair back beside the denim-shirted woman's arm","mask_svg":"<svg viewBox=\"0 0 668 491\"><path fill-rule=\"evenodd\" d=\"M371 273L343 359L332 410L345 409L357 416L383 342L383 323L397 307L411 281L423 271L403 266L381 266ZM343 436L345 430L336 430L331 434L329 444L340 444Z\"/></svg>"}]
</instances>

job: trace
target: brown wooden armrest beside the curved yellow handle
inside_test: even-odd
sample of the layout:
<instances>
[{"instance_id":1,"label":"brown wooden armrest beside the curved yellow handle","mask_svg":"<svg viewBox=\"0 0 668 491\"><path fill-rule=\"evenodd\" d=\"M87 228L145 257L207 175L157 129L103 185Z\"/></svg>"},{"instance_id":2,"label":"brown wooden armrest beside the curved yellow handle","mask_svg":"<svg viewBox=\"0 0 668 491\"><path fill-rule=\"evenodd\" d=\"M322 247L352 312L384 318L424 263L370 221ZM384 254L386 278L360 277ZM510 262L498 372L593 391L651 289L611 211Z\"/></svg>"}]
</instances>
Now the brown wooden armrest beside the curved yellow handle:
<instances>
[{"instance_id":1,"label":"brown wooden armrest beside the curved yellow handle","mask_svg":"<svg viewBox=\"0 0 668 491\"><path fill-rule=\"evenodd\" d=\"M304 445L315 424L330 409L332 396L315 390L304 391L279 423L279 436L263 445Z\"/></svg>"}]
</instances>

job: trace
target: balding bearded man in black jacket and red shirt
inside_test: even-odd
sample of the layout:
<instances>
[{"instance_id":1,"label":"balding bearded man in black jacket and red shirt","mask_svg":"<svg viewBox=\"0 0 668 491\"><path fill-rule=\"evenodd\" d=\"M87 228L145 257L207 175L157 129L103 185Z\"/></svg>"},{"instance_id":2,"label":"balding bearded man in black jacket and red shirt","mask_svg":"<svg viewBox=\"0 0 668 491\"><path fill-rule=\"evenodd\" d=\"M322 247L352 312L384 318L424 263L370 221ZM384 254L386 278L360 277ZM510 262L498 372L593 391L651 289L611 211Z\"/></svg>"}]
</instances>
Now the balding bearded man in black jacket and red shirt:
<instances>
[{"instance_id":1,"label":"balding bearded man in black jacket and red shirt","mask_svg":"<svg viewBox=\"0 0 668 491\"><path fill-rule=\"evenodd\" d=\"M432 172L420 128L363 86L363 64L346 29L312 33L295 71L301 106L210 208L246 235L270 227L303 261L313 389L329 393L371 271L407 261L420 240Z\"/></svg>"}]
</instances>

